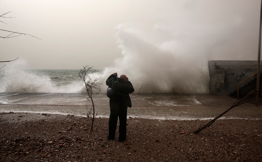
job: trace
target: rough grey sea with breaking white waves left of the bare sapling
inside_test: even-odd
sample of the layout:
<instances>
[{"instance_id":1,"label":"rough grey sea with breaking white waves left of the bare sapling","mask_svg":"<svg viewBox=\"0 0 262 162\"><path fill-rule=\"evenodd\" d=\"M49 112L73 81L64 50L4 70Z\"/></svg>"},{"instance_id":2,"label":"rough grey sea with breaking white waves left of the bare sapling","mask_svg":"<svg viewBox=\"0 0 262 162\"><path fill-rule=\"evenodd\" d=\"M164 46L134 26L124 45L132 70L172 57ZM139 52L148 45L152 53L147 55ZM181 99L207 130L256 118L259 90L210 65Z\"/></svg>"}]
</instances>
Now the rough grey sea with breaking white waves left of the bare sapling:
<instances>
[{"instance_id":1,"label":"rough grey sea with breaking white waves left of the bare sapling","mask_svg":"<svg viewBox=\"0 0 262 162\"><path fill-rule=\"evenodd\" d=\"M80 70L1 70L0 92L81 93Z\"/></svg>"}]
</instances>

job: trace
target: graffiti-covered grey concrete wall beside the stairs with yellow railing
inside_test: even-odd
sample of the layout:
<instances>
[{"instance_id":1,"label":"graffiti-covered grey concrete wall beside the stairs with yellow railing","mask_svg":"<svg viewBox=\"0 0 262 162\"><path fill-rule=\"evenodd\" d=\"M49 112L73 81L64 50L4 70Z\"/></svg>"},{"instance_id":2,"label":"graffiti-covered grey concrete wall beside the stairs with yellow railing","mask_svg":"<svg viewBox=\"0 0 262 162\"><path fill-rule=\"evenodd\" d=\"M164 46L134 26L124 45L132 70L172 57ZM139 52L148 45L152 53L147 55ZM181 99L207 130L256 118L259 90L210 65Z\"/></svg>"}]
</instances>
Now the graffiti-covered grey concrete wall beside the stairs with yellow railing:
<instances>
[{"instance_id":1,"label":"graffiti-covered grey concrete wall beside the stairs with yellow railing","mask_svg":"<svg viewBox=\"0 0 262 162\"><path fill-rule=\"evenodd\" d=\"M262 61L260 61L262 65ZM260 66L261 68L262 66ZM237 91L237 84L257 72L257 61L208 61L209 93L214 95L230 95ZM244 86L256 75L250 77L239 86Z\"/></svg>"}]
</instances>

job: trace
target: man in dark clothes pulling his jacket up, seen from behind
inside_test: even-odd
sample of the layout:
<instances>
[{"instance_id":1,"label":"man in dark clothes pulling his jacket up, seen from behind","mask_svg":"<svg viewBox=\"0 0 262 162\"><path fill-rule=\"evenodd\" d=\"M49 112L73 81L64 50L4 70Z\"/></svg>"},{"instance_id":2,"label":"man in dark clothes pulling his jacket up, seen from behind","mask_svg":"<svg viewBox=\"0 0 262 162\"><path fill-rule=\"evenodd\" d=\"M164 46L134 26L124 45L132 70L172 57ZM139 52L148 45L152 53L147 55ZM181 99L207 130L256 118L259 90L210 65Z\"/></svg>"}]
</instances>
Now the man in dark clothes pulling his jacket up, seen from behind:
<instances>
[{"instance_id":1,"label":"man in dark clothes pulling his jacket up, seen from behind","mask_svg":"<svg viewBox=\"0 0 262 162\"><path fill-rule=\"evenodd\" d=\"M119 142L126 140L126 117L127 107L131 107L131 99L129 93L134 92L132 83L126 75L117 77L117 73L113 73L107 78L106 85L113 89L114 93L110 97L110 117L109 117L109 134L108 140L115 139L117 120L119 118Z\"/></svg>"}]
</instances>

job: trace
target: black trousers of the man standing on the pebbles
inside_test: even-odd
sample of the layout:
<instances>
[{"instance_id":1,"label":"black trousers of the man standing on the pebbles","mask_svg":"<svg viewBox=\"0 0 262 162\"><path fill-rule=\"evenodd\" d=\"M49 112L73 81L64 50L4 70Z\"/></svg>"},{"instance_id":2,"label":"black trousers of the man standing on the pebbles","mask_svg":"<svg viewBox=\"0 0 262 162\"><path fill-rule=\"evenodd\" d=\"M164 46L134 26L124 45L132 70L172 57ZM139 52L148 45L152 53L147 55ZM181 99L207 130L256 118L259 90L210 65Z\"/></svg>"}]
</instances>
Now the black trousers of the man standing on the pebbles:
<instances>
[{"instance_id":1,"label":"black trousers of the man standing on the pebbles","mask_svg":"<svg viewBox=\"0 0 262 162\"><path fill-rule=\"evenodd\" d=\"M117 120L119 118L119 141L124 142L126 140L126 117L127 117L127 105L121 101L110 99L110 117L109 117L109 135L108 140L114 139L117 129Z\"/></svg>"}]
</instances>

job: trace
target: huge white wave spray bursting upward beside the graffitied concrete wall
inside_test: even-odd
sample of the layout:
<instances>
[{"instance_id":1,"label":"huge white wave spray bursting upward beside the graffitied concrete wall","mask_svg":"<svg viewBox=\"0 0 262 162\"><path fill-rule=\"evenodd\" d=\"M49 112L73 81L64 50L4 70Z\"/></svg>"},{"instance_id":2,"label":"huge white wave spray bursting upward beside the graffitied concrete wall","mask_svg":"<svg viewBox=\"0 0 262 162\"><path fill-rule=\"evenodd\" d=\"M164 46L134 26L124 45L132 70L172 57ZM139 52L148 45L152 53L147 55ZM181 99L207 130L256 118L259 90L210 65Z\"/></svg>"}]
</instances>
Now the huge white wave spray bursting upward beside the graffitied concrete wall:
<instances>
[{"instance_id":1,"label":"huge white wave spray bursting upward beside the graffitied concrete wall","mask_svg":"<svg viewBox=\"0 0 262 162\"><path fill-rule=\"evenodd\" d=\"M91 78L102 75L100 81L105 83L114 72L118 76L125 74L133 84L134 93L208 93L207 61L194 60L192 53L186 56L165 50L123 25L116 28L116 33L123 57ZM101 91L106 92L106 88L102 86Z\"/></svg>"}]
</instances>

